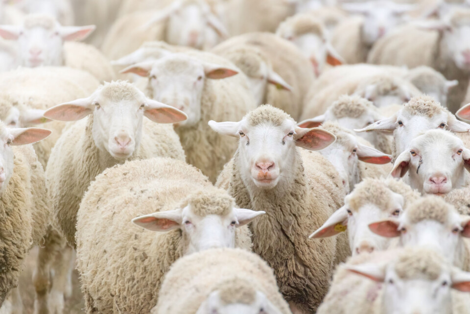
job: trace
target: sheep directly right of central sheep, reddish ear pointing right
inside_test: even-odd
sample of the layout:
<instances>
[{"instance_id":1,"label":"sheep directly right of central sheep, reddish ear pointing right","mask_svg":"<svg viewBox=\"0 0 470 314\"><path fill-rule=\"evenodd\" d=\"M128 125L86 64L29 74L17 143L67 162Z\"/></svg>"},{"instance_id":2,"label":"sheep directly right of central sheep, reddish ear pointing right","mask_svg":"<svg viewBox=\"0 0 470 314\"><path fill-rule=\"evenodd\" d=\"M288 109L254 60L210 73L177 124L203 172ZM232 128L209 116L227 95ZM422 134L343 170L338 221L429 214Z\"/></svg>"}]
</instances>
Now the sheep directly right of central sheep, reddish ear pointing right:
<instances>
[{"instance_id":1,"label":"sheep directly right of central sheep, reddish ear pointing right","mask_svg":"<svg viewBox=\"0 0 470 314\"><path fill-rule=\"evenodd\" d=\"M360 140L352 131L343 129L336 122L324 123L321 128L336 136L336 141L319 153L339 173L346 194L363 179L386 177L392 170L390 155L372 148L370 143Z\"/></svg>"}]
</instances>

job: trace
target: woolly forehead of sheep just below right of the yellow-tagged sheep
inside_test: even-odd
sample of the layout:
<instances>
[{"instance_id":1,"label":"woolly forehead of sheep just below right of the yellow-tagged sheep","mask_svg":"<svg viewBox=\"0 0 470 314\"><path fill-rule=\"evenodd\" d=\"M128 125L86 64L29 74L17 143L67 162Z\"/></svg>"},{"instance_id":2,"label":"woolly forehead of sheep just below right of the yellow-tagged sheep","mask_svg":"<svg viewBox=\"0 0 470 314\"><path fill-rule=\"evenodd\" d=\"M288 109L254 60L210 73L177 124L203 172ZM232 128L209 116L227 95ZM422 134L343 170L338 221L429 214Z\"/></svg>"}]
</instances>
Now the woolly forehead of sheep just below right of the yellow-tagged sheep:
<instances>
[{"instance_id":1,"label":"woolly forehead of sheep just below right of the yellow-tagged sheep","mask_svg":"<svg viewBox=\"0 0 470 314\"><path fill-rule=\"evenodd\" d=\"M434 220L447 225L451 223L452 213L455 213L455 209L442 198L426 196L407 206L404 217L410 224Z\"/></svg>"}]
</instances>

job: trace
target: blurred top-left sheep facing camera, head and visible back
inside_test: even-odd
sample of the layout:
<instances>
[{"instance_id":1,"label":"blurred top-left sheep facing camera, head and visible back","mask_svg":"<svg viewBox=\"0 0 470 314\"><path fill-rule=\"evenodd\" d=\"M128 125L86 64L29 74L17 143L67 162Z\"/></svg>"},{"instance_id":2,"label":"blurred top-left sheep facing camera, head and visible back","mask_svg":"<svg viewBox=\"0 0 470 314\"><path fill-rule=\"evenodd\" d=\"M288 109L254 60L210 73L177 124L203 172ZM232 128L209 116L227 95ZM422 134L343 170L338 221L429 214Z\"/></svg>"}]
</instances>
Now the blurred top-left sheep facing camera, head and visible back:
<instances>
[{"instance_id":1,"label":"blurred top-left sheep facing camera, head and visible back","mask_svg":"<svg viewBox=\"0 0 470 314\"><path fill-rule=\"evenodd\" d=\"M32 14L23 25L1 26L0 36L18 43L21 66L68 66L88 71L101 82L111 81L113 68L101 52L91 45L71 42L85 39L94 28L62 26L52 17Z\"/></svg>"}]
</instances>

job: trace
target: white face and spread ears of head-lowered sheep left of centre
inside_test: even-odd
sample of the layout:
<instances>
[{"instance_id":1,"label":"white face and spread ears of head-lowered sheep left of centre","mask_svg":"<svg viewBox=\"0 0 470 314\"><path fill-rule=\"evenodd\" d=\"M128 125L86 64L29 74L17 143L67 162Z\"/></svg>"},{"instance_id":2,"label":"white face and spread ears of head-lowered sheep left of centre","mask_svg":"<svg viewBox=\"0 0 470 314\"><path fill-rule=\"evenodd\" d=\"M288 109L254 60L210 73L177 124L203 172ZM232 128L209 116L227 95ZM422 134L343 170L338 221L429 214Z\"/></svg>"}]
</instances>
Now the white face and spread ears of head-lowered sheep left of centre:
<instances>
[{"instance_id":1,"label":"white face and spread ears of head-lowered sheep left of centre","mask_svg":"<svg viewBox=\"0 0 470 314\"><path fill-rule=\"evenodd\" d=\"M217 247L235 247L235 228L248 224L264 211L227 208L217 214L194 210L191 204L180 209L156 212L132 220L151 231L180 229L184 253L190 254Z\"/></svg>"}]
</instances>

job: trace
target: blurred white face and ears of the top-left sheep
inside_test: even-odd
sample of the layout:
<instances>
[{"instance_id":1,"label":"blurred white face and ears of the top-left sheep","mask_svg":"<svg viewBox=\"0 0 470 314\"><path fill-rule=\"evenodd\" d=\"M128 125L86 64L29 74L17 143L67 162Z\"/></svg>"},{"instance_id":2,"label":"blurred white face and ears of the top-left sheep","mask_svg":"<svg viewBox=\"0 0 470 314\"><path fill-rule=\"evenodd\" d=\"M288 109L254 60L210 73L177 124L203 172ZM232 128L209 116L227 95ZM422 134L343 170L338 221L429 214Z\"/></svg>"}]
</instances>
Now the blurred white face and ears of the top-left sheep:
<instances>
[{"instance_id":1,"label":"blurred white face and ears of the top-left sheep","mask_svg":"<svg viewBox=\"0 0 470 314\"><path fill-rule=\"evenodd\" d=\"M4 25L0 36L16 40L24 67L62 66L64 41L85 39L94 26L61 26L43 15L28 16L22 26Z\"/></svg>"}]
</instances>

